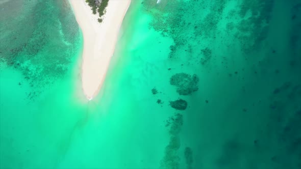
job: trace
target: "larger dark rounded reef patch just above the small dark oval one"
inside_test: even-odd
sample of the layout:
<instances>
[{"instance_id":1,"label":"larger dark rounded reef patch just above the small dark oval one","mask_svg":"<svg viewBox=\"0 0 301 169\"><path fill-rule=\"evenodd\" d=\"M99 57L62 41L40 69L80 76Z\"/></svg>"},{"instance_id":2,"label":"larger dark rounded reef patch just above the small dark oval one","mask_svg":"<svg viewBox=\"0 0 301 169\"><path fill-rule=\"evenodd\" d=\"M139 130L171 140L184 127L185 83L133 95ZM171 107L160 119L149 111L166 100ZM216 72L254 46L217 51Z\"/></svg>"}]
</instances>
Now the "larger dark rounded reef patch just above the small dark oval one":
<instances>
[{"instance_id":1,"label":"larger dark rounded reef patch just above the small dark oval one","mask_svg":"<svg viewBox=\"0 0 301 169\"><path fill-rule=\"evenodd\" d=\"M196 74L192 76L187 73L176 73L170 77L170 85L177 87L180 95L190 95L198 90L198 77Z\"/></svg>"}]
</instances>

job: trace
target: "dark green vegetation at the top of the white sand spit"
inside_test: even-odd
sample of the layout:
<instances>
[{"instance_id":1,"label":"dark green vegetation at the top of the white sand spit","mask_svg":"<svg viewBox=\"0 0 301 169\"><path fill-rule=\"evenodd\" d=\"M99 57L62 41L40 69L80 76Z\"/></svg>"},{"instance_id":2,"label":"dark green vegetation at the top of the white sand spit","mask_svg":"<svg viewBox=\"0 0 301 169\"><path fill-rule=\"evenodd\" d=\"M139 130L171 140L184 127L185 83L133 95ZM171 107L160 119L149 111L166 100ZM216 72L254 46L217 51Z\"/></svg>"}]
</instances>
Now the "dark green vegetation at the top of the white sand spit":
<instances>
[{"instance_id":1,"label":"dark green vegetation at the top of the white sand spit","mask_svg":"<svg viewBox=\"0 0 301 169\"><path fill-rule=\"evenodd\" d=\"M106 14L106 8L108 6L109 0L86 0L86 3L91 7L92 13L95 15L96 11L99 14L97 19L99 23L103 21L103 16Z\"/></svg>"}]
</instances>

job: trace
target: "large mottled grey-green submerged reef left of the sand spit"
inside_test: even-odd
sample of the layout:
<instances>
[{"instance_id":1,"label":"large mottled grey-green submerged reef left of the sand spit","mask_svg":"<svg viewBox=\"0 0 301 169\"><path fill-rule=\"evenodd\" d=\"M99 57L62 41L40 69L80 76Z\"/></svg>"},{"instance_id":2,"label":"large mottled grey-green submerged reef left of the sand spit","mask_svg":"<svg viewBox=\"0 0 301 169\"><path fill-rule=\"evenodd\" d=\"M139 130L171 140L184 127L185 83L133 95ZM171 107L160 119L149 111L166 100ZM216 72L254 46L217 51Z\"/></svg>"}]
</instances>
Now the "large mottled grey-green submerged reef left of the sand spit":
<instances>
[{"instance_id":1,"label":"large mottled grey-green submerged reef left of the sand spit","mask_svg":"<svg viewBox=\"0 0 301 169\"><path fill-rule=\"evenodd\" d=\"M22 4L21 1L14 3ZM2 36L0 71L6 67L20 72L21 84L29 83L28 100L64 78L81 48L81 32L71 6L66 1L31 1L24 15L10 19L11 12L1 13ZM56 6L56 8L52 8ZM49 15L51 13L52 15ZM27 19L23 19L27 18ZM26 29L18 25L27 25ZM5 38L7 37L7 38Z\"/></svg>"}]
</instances>

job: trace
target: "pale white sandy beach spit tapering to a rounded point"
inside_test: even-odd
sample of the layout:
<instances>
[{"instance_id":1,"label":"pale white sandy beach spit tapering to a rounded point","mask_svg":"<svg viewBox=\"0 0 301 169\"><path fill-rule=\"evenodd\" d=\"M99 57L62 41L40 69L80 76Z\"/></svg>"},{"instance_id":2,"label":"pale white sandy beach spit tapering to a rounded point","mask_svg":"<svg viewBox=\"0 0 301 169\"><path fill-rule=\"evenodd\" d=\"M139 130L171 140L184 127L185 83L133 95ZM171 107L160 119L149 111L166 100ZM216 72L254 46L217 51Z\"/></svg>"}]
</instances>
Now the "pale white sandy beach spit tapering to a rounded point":
<instances>
[{"instance_id":1,"label":"pale white sandy beach spit tapering to a rounded point","mask_svg":"<svg viewBox=\"0 0 301 169\"><path fill-rule=\"evenodd\" d=\"M84 36L82 88L89 100L102 87L130 3L131 0L109 1L104 20L98 23L98 14L92 14L85 0L70 0Z\"/></svg>"}]
</instances>

